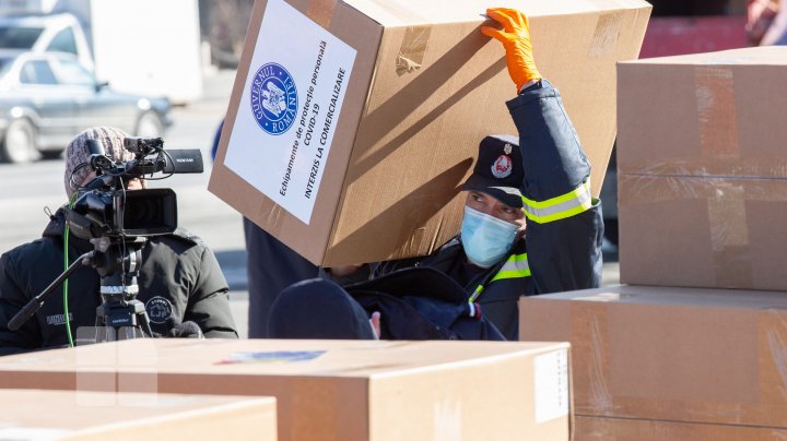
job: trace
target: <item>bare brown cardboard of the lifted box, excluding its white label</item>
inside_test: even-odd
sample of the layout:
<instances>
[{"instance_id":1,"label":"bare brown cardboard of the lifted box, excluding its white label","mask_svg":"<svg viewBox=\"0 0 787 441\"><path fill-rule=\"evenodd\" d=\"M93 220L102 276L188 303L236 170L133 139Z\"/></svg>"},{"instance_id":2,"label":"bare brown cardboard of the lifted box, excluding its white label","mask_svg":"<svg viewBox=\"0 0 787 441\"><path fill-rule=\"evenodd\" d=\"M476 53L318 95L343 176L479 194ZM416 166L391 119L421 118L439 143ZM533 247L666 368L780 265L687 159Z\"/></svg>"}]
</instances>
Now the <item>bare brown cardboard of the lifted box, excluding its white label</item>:
<instances>
[{"instance_id":1,"label":"bare brown cardboard of the lifted box, excluding its white label","mask_svg":"<svg viewBox=\"0 0 787 441\"><path fill-rule=\"evenodd\" d=\"M310 224L224 166L266 1L255 4L210 191L315 263L423 255L458 228L457 186L478 142L513 133L515 91L500 44L479 32L486 1L289 1L357 50ZM325 3L325 4L324 4ZM562 92L598 194L615 136L614 64L636 58L641 0L518 0L536 60ZM257 67L254 67L257 69ZM592 87L588 87L592 84Z\"/></svg>"}]
</instances>

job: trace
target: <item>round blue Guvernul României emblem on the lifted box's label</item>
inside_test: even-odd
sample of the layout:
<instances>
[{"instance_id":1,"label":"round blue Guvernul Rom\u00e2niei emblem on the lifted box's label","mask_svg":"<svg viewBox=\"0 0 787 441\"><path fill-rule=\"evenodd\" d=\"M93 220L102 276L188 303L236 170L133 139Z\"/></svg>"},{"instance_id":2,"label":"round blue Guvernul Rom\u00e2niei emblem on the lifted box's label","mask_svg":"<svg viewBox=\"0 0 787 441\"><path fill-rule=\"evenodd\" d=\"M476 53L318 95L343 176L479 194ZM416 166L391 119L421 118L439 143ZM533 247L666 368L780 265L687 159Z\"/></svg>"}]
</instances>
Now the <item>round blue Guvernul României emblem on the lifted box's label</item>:
<instances>
[{"instance_id":1,"label":"round blue Guvernul Rom\u00e2niei emblem on the lifted box's label","mask_svg":"<svg viewBox=\"0 0 787 441\"><path fill-rule=\"evenodd\" d=\"M260 129L282 134L295 122L297 91L290 72L277 63L263 64L251 81L251 114Z\"/></svg>"}]
</instances>

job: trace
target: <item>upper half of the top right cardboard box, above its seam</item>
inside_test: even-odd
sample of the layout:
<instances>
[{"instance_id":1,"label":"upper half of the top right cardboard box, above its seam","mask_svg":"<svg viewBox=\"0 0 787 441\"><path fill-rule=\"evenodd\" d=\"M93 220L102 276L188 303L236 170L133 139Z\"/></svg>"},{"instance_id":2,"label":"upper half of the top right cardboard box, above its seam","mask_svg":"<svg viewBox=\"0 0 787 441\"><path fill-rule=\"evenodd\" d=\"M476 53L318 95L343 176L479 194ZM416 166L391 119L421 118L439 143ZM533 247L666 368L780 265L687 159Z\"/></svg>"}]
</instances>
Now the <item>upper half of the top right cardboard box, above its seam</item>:
<instances>
[{"instance_id":1,"label":"upper half of the top right cardboard box, above its seam","mask_svg":"<svg viewBox=\"0 0 787 441\"><path fill-rule=\"evenodd\" d=\"M787 47L622 62L622 175L787 178Z\"/></svg>"}]
</instances>

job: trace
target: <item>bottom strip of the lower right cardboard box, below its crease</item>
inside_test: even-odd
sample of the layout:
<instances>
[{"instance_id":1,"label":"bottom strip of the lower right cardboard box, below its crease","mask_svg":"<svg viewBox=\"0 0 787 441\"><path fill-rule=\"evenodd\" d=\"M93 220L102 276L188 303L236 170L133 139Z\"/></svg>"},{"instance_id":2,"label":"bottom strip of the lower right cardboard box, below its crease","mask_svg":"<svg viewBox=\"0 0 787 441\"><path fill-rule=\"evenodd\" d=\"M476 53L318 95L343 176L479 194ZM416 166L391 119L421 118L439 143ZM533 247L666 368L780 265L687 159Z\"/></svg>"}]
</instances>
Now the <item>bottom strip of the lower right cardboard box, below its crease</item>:
<instances>
[{"instance_id":1,"label":"bottom strip of the lower right cardboard box, below its crease","mask_svg":"<svg viewBox=\"0 0 787 441\"><path fill-rule=\"evenodd\" d=\"M575 441L773 441L787 438L787 429L773 427L594 417L576 417L575 422Z\"/></svg>"}]
</instances>

